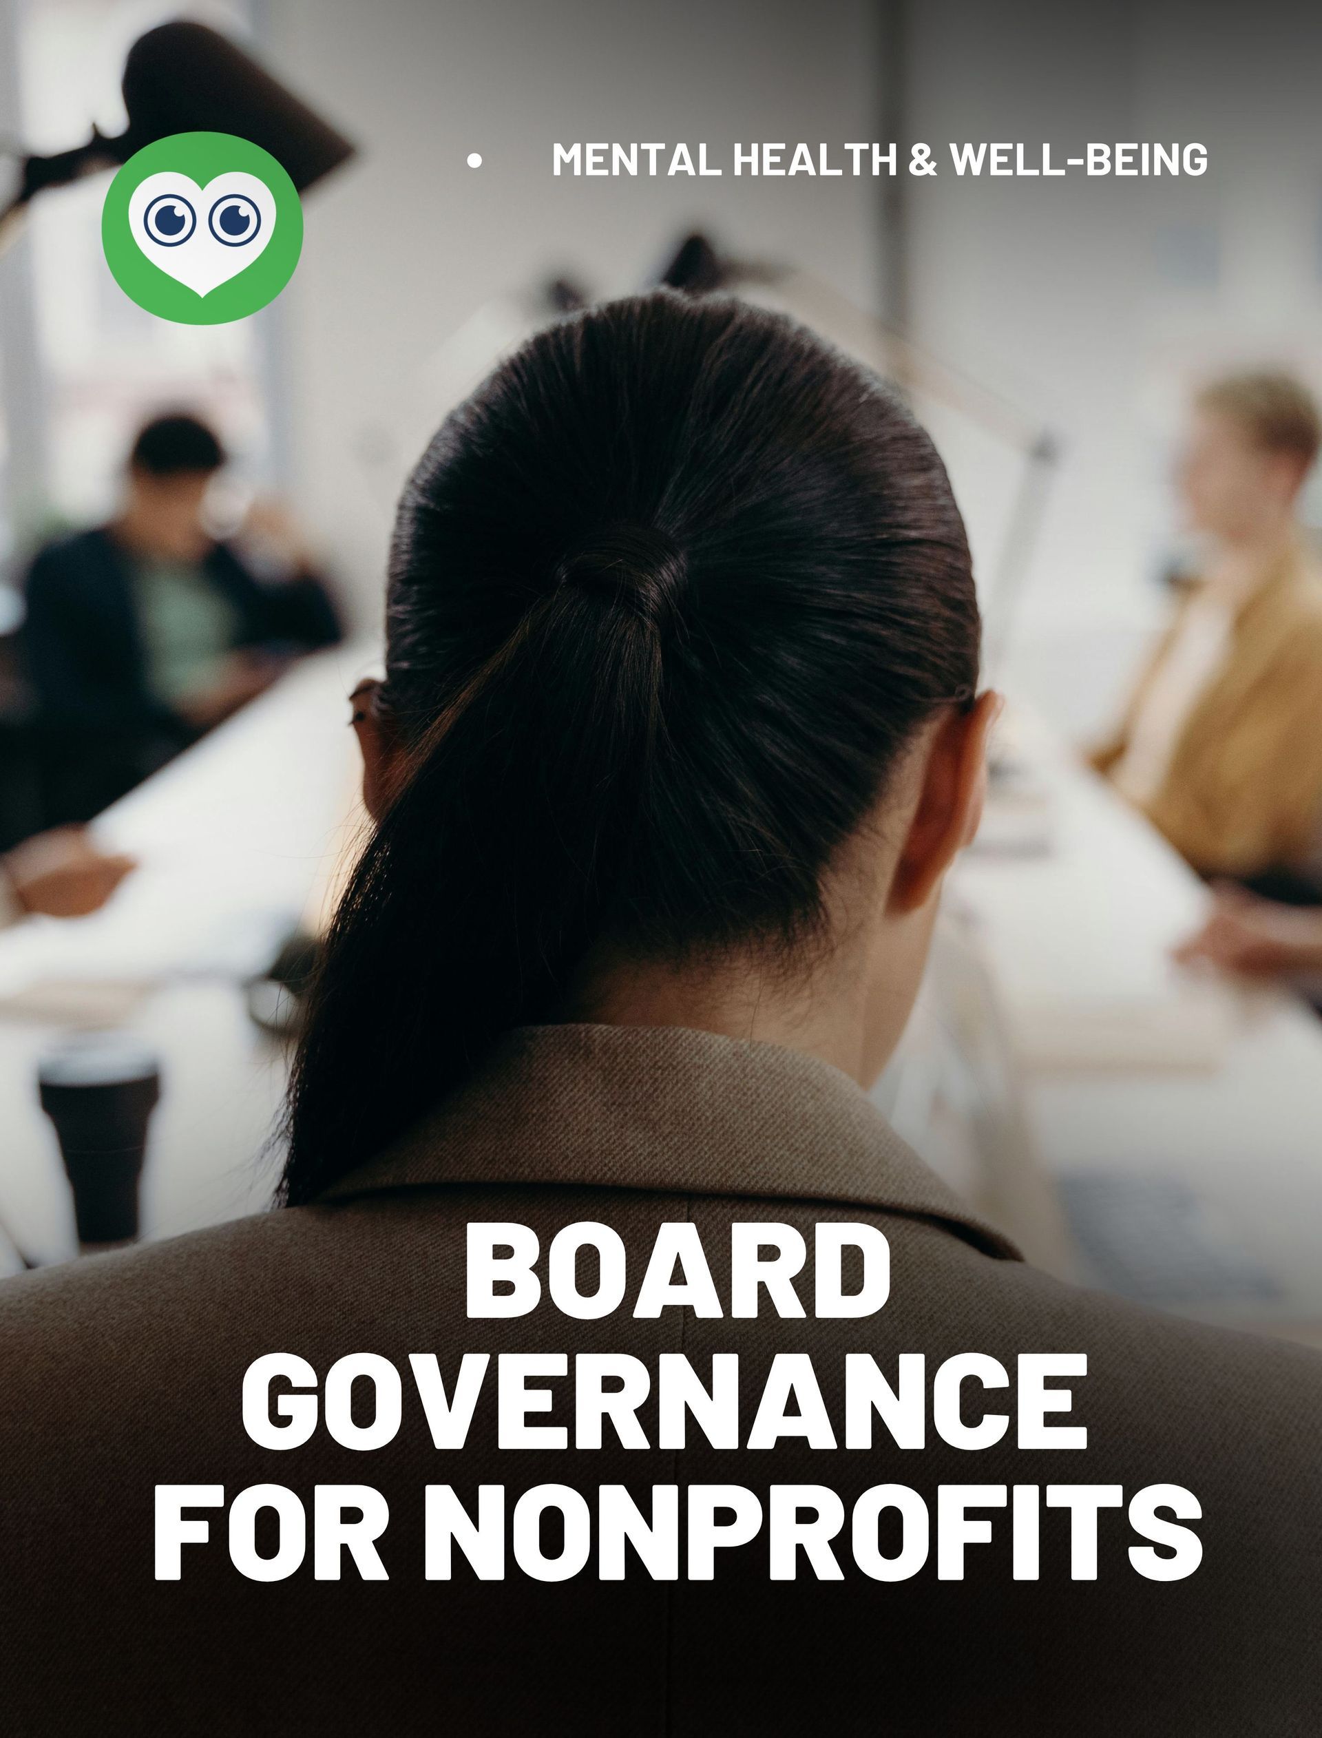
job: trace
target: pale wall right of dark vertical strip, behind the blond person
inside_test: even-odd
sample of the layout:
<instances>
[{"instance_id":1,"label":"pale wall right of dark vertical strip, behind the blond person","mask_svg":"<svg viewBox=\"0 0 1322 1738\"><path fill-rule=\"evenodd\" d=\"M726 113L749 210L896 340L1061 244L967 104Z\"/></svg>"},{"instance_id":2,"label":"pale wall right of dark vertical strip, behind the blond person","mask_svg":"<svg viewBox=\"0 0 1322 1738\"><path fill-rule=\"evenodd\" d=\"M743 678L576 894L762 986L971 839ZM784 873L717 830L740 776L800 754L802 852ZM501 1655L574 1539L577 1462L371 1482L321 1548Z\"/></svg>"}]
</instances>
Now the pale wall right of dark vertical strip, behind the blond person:
<instances>
[{"instance_id":1,"label":"pale wall right of dark vertical strip, behind the blond person","mask_svg":"<svg viewBox=\"0 0 1322 1738\"><path fill-rule=\"evenodd\" d=\"M919 335L1063 436L1015 680L1108 713L1164 607L1169 441L1188 386L1289 363L1322 388L1319 14L1147 0L912 7L921 139L1197 139L1200 181L914 182Z\"/></svg>"}]
</instances>

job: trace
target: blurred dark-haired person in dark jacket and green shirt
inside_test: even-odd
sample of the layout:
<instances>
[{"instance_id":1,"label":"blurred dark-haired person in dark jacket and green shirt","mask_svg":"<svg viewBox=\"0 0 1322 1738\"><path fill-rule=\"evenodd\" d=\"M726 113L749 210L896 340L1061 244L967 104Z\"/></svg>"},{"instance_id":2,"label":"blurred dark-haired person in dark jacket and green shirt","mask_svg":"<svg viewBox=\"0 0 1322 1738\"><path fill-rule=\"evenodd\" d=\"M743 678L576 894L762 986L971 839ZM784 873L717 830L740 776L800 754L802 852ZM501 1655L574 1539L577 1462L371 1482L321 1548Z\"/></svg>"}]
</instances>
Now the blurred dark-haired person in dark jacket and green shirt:
<instances>
[{"instance_id":1,"label":"blurred dark-haired person in dark jacket and green shirt","mask_svg":"<svg viewBox=\"0 0 1322 1738\"><path fill-rule=\"evenodd\" d=\"M335 608L276 507L245 530L274 546L259 577L205 523L226 464L196 417L148 422L108 525L42 549L23 652L36 702L47 824L90 820L255 699L292 659L340 638Z\"/></svg>"}]
</instances>

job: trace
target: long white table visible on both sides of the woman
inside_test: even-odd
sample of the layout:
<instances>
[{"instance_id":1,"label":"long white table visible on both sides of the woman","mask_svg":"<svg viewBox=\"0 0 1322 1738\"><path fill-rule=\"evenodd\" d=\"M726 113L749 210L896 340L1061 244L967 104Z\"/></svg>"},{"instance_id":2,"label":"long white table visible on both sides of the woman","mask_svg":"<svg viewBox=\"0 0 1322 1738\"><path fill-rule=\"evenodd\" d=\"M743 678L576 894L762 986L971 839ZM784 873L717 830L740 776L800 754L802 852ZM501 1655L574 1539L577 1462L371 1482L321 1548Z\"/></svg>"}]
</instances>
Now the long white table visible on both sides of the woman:
<instances>
[{"instance_id":1,"label":"long white table visible on both sides of the woman","mask_svg":"<svg viewBox=\"0 0 1322 1738\"><path fill-rule=\"evenodd\" d=\"M35 1069L76 1024L127 1025L162 1058L144 1236L269 1201L287 1057L248 1018L243 980L351 850L346 695L372 662L370 648L309 659L109 810L99 836L141 869L104 912L0 935L0 1220L30 1257L75 1253ZM1254 1255L1287 1274L1289 1309L1202 1314L1310 1337L1322 1323L1322 1022L1291 996L1176 973L1169 947L1199 921L1202 886L1048 732L1020 720L1015 735L1051 848L987 848L950 881L1023 1114L1011 1194L1048 1222L1049 1265L1086 1276L1060 1215L1051 1225L1061 1180L1207 1185ZM1002 819L994 805L988 841Z\"/></svg>"}]
</instances>

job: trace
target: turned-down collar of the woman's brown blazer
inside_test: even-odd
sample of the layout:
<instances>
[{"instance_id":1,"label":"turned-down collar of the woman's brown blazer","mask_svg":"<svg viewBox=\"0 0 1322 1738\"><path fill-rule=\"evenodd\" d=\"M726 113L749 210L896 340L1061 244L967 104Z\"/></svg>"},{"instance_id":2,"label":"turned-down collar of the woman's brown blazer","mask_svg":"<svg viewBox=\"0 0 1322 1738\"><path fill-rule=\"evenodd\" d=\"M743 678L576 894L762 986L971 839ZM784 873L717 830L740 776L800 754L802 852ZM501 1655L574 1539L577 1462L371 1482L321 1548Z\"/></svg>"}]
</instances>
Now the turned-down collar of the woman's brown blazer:
<instances>
[{"instance_id":1,"label":"turned-down collar of the woman's brown blazer","mask_svg":"<svg viewBox=\"0 0 1322 1738\"><path fill-rule=\"evenodd\" d=\"M846 1074L684 1027L519 1027L469 1086L321 1199L438 1184L856 1203L1021 1260Z\"/></svg>"}]
</instances>

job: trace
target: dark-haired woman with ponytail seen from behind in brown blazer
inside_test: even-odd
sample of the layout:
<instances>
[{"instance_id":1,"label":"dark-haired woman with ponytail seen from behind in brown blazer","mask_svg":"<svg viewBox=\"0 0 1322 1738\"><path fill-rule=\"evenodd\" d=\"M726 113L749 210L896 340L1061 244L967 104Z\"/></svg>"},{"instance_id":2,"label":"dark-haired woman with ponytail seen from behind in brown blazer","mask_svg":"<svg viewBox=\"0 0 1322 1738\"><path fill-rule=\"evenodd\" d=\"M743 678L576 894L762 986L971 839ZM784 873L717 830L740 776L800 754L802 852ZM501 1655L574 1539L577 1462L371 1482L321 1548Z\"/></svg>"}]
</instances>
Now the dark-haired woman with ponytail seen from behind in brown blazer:
<instances>
[{"instance_id":1,"label":"dark-haired woman with ponytail seen from behind in brown blazer","mask_svg":"<svg viewBox=\"0 0 1322 1738\"><path fill-rule=\"evenodd\" d=\"M278 1210L0 1288L5 1729L1315 1729L1317 1361L1035 1274L870 1098L997 704L903 405L577 315L386 626Z\"/></svg>"}]
</instances>

